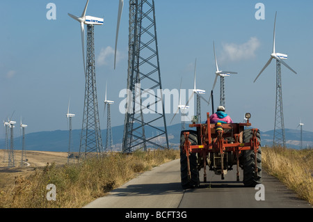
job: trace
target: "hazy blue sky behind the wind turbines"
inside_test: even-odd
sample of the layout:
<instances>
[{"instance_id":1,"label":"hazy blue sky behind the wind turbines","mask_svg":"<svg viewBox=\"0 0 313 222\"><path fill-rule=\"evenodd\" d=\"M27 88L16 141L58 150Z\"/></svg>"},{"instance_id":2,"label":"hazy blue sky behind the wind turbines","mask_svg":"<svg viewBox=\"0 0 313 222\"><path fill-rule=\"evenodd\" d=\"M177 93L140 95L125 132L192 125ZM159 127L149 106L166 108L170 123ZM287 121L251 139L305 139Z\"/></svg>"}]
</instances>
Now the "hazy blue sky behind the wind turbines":
<instances>
[{"instance_id":1,"label":"hazy blue sky behind the wind turbines","mask_svg":"<svg viewBox=\"0 0 313 222\"><path fill-rule=\"evenodd\" d=\"M48 20L46 8L56 4L56 20ZM255 18L256 3L264 3L265 19ZM67 104L73 129L80 129L85 78L81 55L79 23L67 13L81 15L85 0L0 1L0 118L13 112L13 120L29 125L26 133L67 129ZM300 118L303 129L313 132L313 1L155 1L157 37L163 88L193 88L193 65L197 58L197 88L209 98L215 78L213 41L220 69L238 74L225 79L227 113L234 122L250 122L262 131L273 129L275 117L275 63L253 83L272 52L273 23L276 24L276 51L288 54L282 67L284 125L296 129ZM128 1L122 15L119 59L113 69L112 49L118 15L118 0L90 0L87 15L104 17L104 26L95 27L95 59L100 126L106 81L109 85L112 126L122 125L124 115L118 104L120 90L127 84ZM230 49L235 49L230 51ZM219 81L214 102L219 100ZM202 113L211 105L202 103ZM172 114L167 115L168 125ZM179 122L175 118L172 124ZM19 132L17 133L19 134ZM122 135L121 135L122 136ZM3 137L3 127L0 130Z\"/></svg>"}]
</instances>

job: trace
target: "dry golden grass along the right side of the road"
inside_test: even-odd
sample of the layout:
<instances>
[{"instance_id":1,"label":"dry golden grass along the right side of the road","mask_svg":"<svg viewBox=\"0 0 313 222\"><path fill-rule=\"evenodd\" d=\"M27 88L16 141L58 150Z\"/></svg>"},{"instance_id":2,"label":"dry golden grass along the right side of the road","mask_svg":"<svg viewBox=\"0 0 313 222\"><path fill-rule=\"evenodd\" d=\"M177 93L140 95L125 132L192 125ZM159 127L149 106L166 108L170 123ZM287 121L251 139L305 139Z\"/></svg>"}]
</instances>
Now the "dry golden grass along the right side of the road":
<instances>
[{"instance_id":1,"label":"dry golden grass along the right side of the road","mask_svg":"<svg viewBox=\"0 0 313 222\"><path fill-rule=\"evenodd\" d=\"M262 148L262 168L313 204L313 149Z\"/></svg>"}]
</instances>

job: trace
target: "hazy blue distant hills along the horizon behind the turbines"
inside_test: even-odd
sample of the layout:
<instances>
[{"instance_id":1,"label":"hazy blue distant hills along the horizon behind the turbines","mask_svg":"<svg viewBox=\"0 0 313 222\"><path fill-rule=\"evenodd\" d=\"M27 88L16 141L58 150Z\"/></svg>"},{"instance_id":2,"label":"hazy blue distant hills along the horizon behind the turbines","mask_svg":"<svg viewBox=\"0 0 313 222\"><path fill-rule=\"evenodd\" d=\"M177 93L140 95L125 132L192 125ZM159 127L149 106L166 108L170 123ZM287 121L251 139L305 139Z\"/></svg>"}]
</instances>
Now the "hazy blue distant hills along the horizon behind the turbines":
<instances>
[{"instance_id":1,"label":"hazy blue distant hills along the horizon behind the turbines","mask_svg":"<svg viewBox=\"0 0 313 222\"><path fill-rule=\"evenodd\" d=\"M168 127L168 138L171 148L178 148L179 136L180 136L181 124L171 125ZM122 136L124 126L112 127L113 143L115 144L115 150L121 149ZM300 148L300 130L297 129L285 129L287 147ZM147 129L145 132L147 138L156 136L157 131ZM72 151L79 151L81 130L72 130ZM51 132L35 132L25 135L25 148L26 150L38 150L38 151L54 151L54 152L67 152L68 150L68 138L69 134L67 130L56 130ZM155 141L156 143L163 143L165 138ZM106 142L106 129L102 130L102 142L105 145ZM273 130L267 132L261 132L261 144L272 145L273 143ZM313 132L303 131L303 146L309 145L313 147ZM22 149L22 137L15 138L14 147L16 150ZM0 149L5 148L5 140L0 139Z\"/></svg>"}]
</instances>

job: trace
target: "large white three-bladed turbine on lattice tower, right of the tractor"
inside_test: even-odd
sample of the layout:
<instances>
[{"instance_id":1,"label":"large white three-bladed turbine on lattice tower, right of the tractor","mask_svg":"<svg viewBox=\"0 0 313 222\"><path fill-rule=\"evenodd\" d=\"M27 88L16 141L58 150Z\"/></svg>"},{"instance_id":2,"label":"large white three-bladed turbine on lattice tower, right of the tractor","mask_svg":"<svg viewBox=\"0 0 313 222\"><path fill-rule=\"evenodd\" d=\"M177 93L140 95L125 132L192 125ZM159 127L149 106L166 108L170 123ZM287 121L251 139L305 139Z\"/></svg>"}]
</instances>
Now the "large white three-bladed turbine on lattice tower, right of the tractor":
<instances>
[{"instance_id":1,"label":"large white three-bladed turbine on lattice tower, right of the tractor","mask_svg":"<svg viewBox=\"0 0 313 222\"><path fill-rule=\"evenodd\" d=\"M255 81L257 78L259 78L259 75L268 67L268 65L271 63L272 59L274 58L276 60L276 103L275 103L275 126L274 126L274 136L273 136L273 146L280 145L282 147L286 146L286 138L284 134L284 112L282 109L282 72L281 72L281 64L286 66L289 70L294 72L296 71L291 69L287 63L285 63L283 60L287 59L288 56L286 54L281 54L278 52L275 52L275 26L276 26L276 16L277 12L275 13L275 22L274 22L274 35L273 35L273 53L271 54L271 58L267 61L267 63L264 65L264 68L262 68L261 72L257 75L255 78ZM255 82L254 81L254 82Z\"/></svg>"}]
</instances>

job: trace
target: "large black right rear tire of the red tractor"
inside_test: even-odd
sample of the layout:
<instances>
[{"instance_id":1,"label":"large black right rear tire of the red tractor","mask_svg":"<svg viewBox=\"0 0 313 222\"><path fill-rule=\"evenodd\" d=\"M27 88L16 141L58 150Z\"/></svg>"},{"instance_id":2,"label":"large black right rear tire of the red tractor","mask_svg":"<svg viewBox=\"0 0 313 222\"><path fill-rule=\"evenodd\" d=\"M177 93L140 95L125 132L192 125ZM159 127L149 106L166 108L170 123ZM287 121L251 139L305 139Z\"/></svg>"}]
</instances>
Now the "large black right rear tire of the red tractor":
<instances>
[{"instance_id":1,"label":"large black right rear tire of the red tractor","mask_svg":"<svg viewBox=\"0 0 313 222\"><path fill-rule=\"evenodd\" d=\"M252 138L252 129L243 131L243 143L249 143ZM259 130L257 131L257 140L261 143ZM255 187L262 184L262 151L261 145L257 150L257 175L255 175L255 152L254 150L243 150L241 157L243 166L243 184L246 187Z\"/></svg>"}]
</instances>

